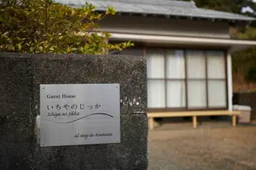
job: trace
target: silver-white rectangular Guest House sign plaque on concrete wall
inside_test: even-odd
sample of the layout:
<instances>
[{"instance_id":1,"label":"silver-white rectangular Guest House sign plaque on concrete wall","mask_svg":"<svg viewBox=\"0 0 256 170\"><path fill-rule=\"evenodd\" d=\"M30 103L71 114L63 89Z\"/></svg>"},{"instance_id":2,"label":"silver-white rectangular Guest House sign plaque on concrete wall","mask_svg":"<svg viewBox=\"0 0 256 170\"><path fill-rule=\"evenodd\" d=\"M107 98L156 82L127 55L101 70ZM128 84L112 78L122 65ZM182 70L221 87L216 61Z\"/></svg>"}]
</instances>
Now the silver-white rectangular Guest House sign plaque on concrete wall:
<instances>
[{"instance_id":1,"label":"silver-white rectangular Guest House sign plaque on concrete wall","mask_svg":"<svg viewBox=\"0 0 256 170\"><path fill-rule=\"evenodd\" d=\"M120 85L40 85L40 146L120 143Z\"/></svg>"}]
</instances>

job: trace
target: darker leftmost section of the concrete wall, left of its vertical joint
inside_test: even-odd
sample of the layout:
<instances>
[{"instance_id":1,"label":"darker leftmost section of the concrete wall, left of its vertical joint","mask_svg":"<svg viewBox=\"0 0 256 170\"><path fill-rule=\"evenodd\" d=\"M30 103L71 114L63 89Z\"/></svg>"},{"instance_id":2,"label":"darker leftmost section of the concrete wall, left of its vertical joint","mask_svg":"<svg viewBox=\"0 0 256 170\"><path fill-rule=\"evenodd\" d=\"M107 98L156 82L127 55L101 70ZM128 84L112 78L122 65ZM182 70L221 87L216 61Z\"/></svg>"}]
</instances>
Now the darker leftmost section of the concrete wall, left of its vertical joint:
<instances>
[{"instance_id":1,"label":"darker leftmost section of the concrete wall, left of its vertical joint","mask_svg":"<svg viewBox=\"0 0 256 170\"><path fill-rule=\"evenodd\" d=\"M31 169L34 117L29 55L0 53L0 169Z\"/></svg>"}]
</instances>

